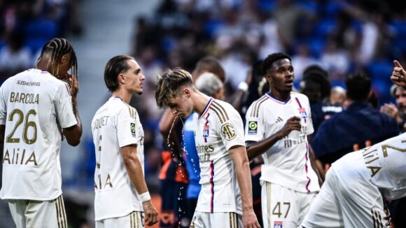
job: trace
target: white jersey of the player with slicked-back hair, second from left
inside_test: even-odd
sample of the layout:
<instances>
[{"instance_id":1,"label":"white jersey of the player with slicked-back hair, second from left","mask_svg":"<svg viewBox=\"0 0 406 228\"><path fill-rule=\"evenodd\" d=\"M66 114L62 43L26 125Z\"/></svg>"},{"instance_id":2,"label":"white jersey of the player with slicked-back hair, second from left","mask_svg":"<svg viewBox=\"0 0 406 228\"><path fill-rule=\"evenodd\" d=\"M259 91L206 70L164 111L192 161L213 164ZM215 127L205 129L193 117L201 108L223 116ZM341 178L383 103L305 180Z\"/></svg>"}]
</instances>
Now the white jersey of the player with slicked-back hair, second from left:
<instances>
[{"instance_id":1,"label":"white jersey of the player with slicked-back hair, second from left","mask_svg":"<svg viewBox=\"0 0 406 228\"><path fill-rule=\"evenodd\" d=\"M120 152L126 145L137 144L144 171L144 130L135 108L119 97L111 97L94 114L92 134L96 151L94 220L144 211Z\"/></svg>"}]
</instances>

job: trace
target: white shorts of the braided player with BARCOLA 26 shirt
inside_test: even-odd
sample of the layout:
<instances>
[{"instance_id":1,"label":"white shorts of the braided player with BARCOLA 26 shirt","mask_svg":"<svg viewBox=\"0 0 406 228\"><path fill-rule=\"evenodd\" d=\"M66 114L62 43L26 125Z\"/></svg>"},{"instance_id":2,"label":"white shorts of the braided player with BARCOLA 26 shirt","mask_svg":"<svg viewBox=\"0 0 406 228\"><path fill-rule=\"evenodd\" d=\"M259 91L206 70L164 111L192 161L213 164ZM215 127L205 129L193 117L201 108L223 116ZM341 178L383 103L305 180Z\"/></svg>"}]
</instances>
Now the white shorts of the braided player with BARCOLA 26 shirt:
<instances>
[{"instance_id":1,"label":"white shorts of the braided player with BARCOLA 26 shirt","mask_svg":"<svg viewBox=\"0 0 406 228\"><path fill-rule=\"evenodd\" d=\"M62 195L50 201L8 199L8 206L16 227L68 227Z\"/></svg>"}]
</instances>

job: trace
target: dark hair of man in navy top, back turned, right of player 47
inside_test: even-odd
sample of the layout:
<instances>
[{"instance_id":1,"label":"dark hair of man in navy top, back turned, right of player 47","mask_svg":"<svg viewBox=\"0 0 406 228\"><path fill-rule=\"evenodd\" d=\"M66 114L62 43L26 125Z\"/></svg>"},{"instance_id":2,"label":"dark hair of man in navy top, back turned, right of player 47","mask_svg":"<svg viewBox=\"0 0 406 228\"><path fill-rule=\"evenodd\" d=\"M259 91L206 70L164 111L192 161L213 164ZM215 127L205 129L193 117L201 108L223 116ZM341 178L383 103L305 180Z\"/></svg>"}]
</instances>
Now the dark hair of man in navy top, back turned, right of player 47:
<instances>
[{"instance_id":1,"label":"dark hair of man in navy top, back turned, right of player 47","mask_svg":"<svg viewBox=\"0 0 406 228\"><path fill-rule=\"evenodd\" d=\"M370 94L371 79L363 73L356 73L345 80L346 94L353 101L365 101Z\"/></svg>"}]
</instances>

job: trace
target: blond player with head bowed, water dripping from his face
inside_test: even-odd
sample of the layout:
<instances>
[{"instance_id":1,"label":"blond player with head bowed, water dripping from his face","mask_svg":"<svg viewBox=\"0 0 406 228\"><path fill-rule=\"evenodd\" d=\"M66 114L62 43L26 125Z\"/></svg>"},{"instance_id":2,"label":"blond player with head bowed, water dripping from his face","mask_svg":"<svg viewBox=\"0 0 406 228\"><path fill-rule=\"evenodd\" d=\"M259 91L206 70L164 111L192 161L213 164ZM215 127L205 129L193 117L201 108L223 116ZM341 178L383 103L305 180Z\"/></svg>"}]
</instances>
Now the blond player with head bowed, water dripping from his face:
<instances>
[{"instance_id":1,"label":"blond player with head bowed, water dripping from his face","mask_svg":"<svg viewBox=\"0 0 406 228\"><path fill-rule=\"evenodd\" d=\"M190 227L259 227L252 208L244 128L237 111L196 90L192 76L183 69L167 69L158 77L155 99L158 107L169 107L180 117L195 111L202 190Z\"/></svg>"}]
</instances>

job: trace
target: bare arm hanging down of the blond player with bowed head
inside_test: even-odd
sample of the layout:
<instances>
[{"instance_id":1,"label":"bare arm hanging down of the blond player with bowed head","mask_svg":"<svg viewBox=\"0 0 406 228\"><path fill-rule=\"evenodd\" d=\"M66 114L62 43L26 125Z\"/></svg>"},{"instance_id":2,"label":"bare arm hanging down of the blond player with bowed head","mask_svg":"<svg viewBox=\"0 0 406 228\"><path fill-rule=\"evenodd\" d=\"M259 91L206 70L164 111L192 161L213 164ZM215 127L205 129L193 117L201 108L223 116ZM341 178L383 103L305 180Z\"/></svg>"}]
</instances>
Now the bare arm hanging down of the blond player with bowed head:
<instances>
[{"instance_id":1,"label":"bare arm hanging down of the blond player with bowed head","mask_svg":"<svg viewBox=\"0 0 406 228\"><path fill-rule=\"evenodd\" d=\"M243 145L237 145L228 151L232 162L235 164L237 182L241 191L242 221L244 227L260 227L255 213L253 212L251 171L249 169L246 149Z\"/></svg>"}]
</instances>

